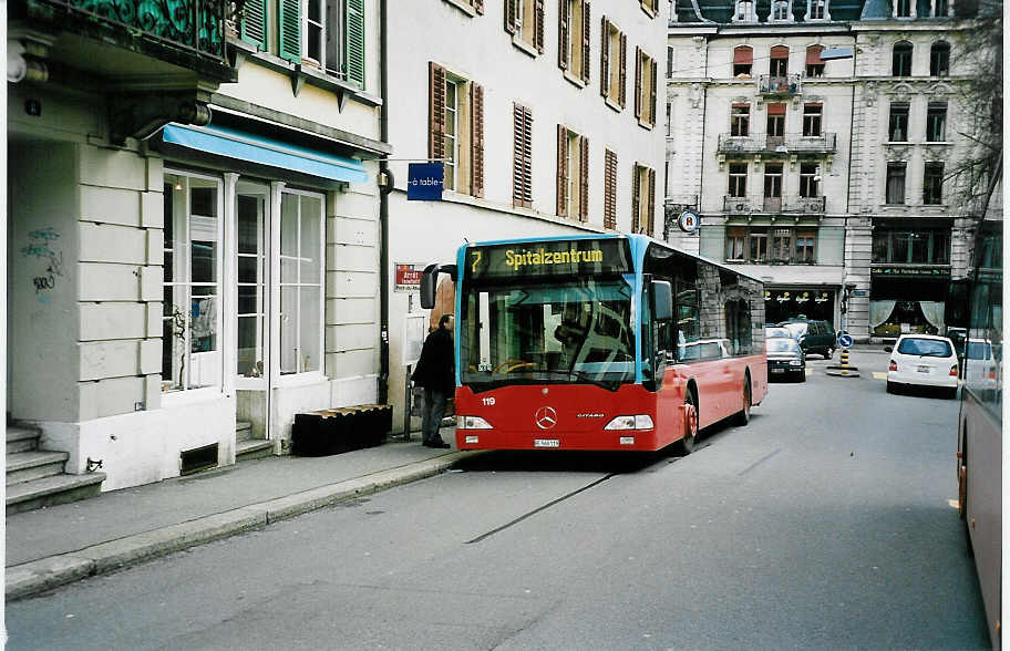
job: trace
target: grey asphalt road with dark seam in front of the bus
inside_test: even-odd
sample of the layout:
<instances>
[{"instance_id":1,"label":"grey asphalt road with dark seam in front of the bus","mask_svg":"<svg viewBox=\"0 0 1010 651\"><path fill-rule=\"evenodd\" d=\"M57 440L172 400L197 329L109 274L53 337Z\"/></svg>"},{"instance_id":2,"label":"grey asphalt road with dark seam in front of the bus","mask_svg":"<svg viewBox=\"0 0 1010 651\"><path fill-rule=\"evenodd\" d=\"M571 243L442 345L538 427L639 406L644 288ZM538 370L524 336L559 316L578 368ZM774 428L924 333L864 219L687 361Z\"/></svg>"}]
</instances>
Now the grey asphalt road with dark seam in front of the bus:
<instances>
[{"instance_id":1,"label":"grey asphalt road with dark seam in front of the bus","mask_svg":"<svg viewBox=\"0 0 1010 651\"><path fill-rule=\"evenodd\" d=\"M812 361L687 457L485 455L9 603L8 648L987 648L957 402L886 361Z\"/></svg>"}]
</instances>

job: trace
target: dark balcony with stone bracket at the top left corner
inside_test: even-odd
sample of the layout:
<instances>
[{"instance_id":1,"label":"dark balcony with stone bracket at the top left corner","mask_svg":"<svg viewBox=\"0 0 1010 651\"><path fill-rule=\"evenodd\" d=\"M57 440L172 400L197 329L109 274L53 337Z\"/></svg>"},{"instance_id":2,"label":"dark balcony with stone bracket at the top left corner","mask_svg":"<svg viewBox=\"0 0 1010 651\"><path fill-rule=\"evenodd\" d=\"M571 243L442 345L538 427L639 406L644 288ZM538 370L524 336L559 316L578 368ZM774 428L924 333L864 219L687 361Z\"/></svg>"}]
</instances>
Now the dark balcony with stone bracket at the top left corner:
<instances>
[{"instance_id":1,"label":"dark balcony with stone bracket at the top left corner","mask_svg":"<svg viewBox=\"0 0 1010 651\"><path fill-rule=\"evenodd\" d=\"M11 81L106 95L110 140L146 137L167 122L206 124L207 102L237 81L227 56L230 0L12 0Z\"/></svg>"}]
</instances>

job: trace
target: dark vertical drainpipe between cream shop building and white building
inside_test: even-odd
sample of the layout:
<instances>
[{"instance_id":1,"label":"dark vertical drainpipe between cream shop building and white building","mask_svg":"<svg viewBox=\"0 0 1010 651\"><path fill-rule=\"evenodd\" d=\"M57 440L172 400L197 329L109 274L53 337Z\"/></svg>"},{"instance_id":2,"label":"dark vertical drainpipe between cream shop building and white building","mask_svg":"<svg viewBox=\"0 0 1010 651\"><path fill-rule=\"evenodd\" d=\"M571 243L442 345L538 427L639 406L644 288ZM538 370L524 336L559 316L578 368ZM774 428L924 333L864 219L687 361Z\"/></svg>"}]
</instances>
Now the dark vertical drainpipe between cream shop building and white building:
<instances>
[{"instance_id":1,"label":"dark vertical drainpipe between cream shop building and white building","mask_svg":"<svg viewBox=\"0 0 1010 651\"><path fill-rule=\"evenodd\" d=\"M379 140L389 142L387 68L387 0L379 2ZM389 194L393 177L385 159L379 161L379 404L389 402Z\"/></svg>"}]
</instances>

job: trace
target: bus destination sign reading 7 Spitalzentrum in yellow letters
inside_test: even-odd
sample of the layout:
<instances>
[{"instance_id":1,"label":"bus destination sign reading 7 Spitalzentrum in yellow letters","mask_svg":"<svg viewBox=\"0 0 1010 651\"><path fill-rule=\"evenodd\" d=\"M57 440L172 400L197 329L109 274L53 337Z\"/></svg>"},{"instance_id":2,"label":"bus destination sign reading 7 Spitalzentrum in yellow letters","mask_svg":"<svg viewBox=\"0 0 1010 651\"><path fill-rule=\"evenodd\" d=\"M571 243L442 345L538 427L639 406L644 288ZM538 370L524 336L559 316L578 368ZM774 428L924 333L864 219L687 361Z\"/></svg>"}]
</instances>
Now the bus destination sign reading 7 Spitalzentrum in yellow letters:
<instances>
[{"instance_id":1,"label":"bus destination sign reading 7 Spitalzentrum in yellow letters","mask_svg":"<svg viewBox=\"0 0 1010 651\"><path fill-rule=\"evenodd\" d=\"M548 240L476 246L467 255L471 278L628 273L626 239Z\"/></svg>"}]
</instances>

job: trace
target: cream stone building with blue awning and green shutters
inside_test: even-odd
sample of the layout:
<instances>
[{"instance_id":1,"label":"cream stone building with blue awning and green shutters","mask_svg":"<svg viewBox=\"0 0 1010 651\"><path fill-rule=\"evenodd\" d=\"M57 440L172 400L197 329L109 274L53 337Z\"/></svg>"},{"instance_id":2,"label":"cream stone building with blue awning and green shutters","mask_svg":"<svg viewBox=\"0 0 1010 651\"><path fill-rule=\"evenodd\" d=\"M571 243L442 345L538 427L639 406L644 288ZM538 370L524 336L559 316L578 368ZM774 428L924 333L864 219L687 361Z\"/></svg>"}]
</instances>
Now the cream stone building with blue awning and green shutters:
<instances>
[{"instance_id":1,"label":"cream stone building with blue awning and green shutters","mask_svg":"<svg viewBox=\"0 0 1010 651\"><path fill-rule=\"evenodd\" d=\"M66 473L282 454L377 401L379 10L323 8L12 7L9 417Z\"/></svg>"}]
</instances>

